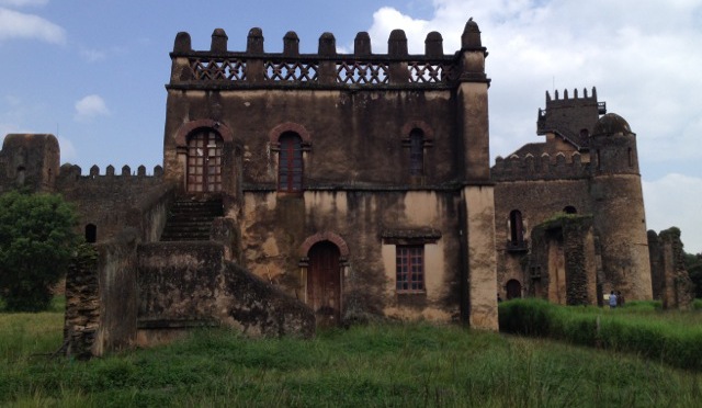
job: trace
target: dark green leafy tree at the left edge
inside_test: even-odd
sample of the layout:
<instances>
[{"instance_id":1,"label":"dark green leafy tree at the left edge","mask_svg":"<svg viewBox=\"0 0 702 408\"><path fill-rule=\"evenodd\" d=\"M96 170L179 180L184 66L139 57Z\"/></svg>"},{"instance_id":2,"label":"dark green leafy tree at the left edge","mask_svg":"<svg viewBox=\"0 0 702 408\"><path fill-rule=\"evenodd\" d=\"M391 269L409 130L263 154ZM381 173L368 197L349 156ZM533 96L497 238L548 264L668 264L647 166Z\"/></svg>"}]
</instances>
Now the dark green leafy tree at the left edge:
<instances>
[{"instance_id":1,"label":"dark green leafy tree at the left edge","mask_svg":"<svg viewBox=\"0 0 702 408\"><path fill-rule=\"evenodd\" d=\"M78 245L76 211L60 195L0 195L0 296L8 310L45 310Z\"/></svg>"}]
</instances>

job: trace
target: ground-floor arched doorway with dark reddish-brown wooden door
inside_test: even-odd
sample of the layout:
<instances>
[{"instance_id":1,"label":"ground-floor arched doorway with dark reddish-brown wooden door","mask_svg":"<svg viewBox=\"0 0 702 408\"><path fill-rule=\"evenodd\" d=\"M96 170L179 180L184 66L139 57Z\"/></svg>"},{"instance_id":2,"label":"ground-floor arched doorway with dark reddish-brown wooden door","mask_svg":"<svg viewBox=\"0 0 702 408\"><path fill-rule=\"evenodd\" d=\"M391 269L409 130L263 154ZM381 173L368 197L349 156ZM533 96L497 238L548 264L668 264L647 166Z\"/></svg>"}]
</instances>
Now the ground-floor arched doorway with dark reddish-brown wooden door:
<instances>
[{"instance_id":1,"label":"ground-floor arched doorway with dark reddish-brown wooden door","mask_svg":"<svg viewBox=\"0 0 702 408\"><path fill-rule=\"evenodd\" d=\"M317 326L337 325L341 318L339 248L319 241L309 249L308 258L307 305L315 310Z\"/></svg>"}]
</instances>

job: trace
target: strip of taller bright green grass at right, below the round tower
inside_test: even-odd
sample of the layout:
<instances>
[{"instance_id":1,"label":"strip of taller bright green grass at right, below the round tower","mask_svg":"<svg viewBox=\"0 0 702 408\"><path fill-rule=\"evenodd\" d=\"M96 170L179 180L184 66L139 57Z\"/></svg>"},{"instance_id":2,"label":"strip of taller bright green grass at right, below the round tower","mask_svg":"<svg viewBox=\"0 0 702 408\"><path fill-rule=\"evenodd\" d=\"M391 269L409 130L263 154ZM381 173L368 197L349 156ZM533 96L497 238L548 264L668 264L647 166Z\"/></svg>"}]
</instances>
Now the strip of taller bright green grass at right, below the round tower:
<instances>
[{"instance_id":1,"label":"strip of taller bright green grass at right, below the round tower","mask_svg":"<svg viewBox=\"0 0 702 408\"><path fill-rule=\"evenodd\" d=\"M702 314L664 313L656 303L609 309L510 301L500 305L500 330L631 352L702 371Z\"/></svg>"}]
</instances>

